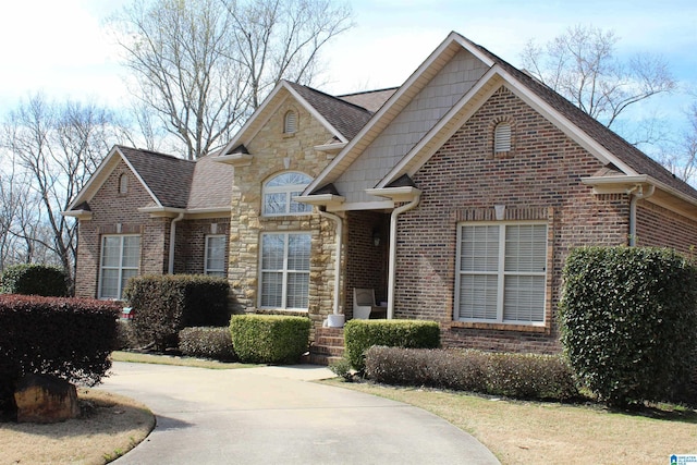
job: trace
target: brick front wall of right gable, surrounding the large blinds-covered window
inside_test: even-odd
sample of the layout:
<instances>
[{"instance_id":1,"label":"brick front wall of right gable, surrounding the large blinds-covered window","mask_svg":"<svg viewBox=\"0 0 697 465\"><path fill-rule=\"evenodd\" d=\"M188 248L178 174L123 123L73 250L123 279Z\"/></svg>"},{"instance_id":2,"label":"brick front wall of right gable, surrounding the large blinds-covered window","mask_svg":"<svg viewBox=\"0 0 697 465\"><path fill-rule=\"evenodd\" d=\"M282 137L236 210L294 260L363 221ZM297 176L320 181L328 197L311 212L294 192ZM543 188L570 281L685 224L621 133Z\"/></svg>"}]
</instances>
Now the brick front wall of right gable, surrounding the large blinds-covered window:
<instances>
[{"instance_id":1,"label":"brick front wall of right gable, surrounding the large blinds-covered window","mask_svg":"<svg viewBox=\"0 0 697 465\"><path fill-rule=\"evenodd\" d=\"M493 156L493 127L512 124L513 148ZM395 316L440 321L450 346L555 352L561 270L570 247L626 244L626 195L595 196L580 183L602 164L504 87L415 174L419 206L399 220ZM548 224L543 328L453 321L460 221L508 219Z\"/></svg>"}]
</instances>

